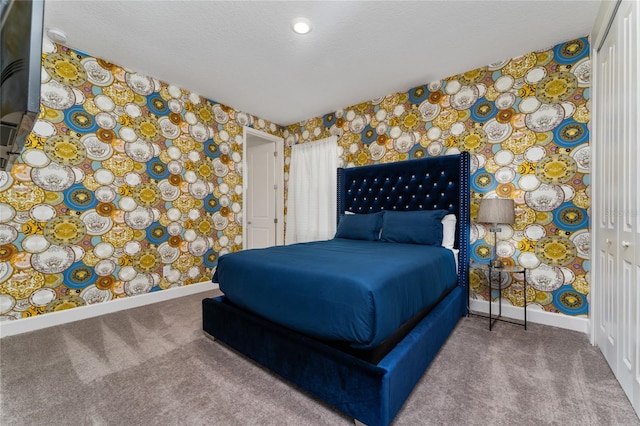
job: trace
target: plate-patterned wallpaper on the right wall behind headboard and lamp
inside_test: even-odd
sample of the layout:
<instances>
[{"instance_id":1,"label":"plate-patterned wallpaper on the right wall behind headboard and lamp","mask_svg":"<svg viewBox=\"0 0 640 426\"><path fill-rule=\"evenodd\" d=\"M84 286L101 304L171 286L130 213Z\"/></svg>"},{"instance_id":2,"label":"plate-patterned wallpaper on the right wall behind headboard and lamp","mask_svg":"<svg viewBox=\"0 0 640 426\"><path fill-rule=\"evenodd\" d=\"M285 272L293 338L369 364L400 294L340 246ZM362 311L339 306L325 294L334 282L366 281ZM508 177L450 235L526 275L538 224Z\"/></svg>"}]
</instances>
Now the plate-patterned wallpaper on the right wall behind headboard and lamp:
<instances>
[{"instance_id":1,"label":"plate-patterned wallpaper on the right wall behind headboard and lamp","mask_svg":"<svg viewBox=\"0 0 640 426\"><path fill-rule=\"evenodd\" d=\"M337 135L347 167L469 151L472 222L483 197L515 201L498 253L530 268L529 309L586 315L590 77L584 37L289 126L285 142ZM486 262L488 225L472 225L471 244L472 259ZM503 278L505 301L522 306L522 277ZM498 293L477 270L470 286L475 298Z\"/></svg>"}]
</instances>

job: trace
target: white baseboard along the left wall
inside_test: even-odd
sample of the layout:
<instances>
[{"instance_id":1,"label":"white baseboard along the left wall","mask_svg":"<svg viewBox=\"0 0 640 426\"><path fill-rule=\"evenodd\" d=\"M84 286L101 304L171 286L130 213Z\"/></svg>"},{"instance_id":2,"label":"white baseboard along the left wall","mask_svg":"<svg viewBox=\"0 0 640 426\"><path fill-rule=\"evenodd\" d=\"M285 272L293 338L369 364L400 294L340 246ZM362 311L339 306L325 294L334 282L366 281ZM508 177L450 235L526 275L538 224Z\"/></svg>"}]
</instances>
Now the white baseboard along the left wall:
<instances>
[{"instance_id":1,"label":"white baseboard along the left wall","mask_svg":"<svg viewBox=\"0 0 640 426\"><path fill-rule=\"evenodd\" d=\"M138 296L115 299L105 303L86 305L64 311L52 312L50 314L38 315L35 317L23 318L13 321L0 322L0 338L27 333L29 331L40 330L42 328L53 327L55 325L82 319L97 317L99 315L110 314L124 309L137 308L151 303L162 302L164 300L175 299L188 296L190 294L213 291L218 288L218 284L211 281L197 284L190 284L183 287L173 287L153 293L141 294Z\"/></svg>"}]
</instances>

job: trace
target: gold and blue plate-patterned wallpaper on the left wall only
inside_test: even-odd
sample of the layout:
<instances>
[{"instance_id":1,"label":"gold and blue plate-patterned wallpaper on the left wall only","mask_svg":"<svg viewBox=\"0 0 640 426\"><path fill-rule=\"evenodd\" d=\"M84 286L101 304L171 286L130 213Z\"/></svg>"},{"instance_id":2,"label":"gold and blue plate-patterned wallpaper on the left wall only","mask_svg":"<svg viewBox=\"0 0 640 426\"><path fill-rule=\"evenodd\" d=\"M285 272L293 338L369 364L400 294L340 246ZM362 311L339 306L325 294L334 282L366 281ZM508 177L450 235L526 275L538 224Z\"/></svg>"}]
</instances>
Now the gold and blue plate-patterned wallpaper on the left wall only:
<instances>
[{"instance_id":1,"label":"gold and blue plate-patterned wallpaper on the left wall only","mask_svg":"<svg viewBox=\"0 0 640 426\"><path fill-rule=\"evenodd\" d=\"M243 126L282 128L45 39L0 172L0 320L209 281L242 246Z\"/></svg>"}]
</instances>

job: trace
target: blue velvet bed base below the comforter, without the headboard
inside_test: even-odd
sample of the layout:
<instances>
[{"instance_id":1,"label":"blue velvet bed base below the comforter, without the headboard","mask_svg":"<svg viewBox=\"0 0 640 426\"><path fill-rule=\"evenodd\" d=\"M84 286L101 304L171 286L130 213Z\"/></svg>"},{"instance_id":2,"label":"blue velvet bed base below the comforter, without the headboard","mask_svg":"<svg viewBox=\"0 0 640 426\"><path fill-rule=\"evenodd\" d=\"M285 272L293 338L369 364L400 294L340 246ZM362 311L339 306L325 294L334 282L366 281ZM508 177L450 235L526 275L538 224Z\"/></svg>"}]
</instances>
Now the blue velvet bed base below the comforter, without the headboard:
<instances>
[{"instance_id":1,"label":"blue velvet bed base below the comforter, without the headboard","mask_svg":"<svg viewBox=\"0 0 640 426\"><path fill-rule=\"evenodd\" d=\"M459 319L466 289L454 288L377 365L251 315L224 296L202 301L203 329L356 421L388 425Z\"/></svg>"}]
</instances>

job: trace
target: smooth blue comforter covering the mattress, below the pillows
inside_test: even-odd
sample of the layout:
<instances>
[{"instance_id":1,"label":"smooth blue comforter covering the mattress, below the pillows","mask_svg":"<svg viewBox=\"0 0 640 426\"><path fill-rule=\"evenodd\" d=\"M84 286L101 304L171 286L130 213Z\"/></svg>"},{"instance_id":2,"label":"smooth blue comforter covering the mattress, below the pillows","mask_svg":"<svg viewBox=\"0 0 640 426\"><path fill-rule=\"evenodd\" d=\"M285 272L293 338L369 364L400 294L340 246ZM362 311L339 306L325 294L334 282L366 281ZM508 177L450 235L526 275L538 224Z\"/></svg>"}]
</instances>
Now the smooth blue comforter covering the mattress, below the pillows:
<instances>
[{"instance_id":1,"label":"smooth blue comforter covering the mattress, below the pillows","mask_svg":"<svg viewBox=\"0 0 640 426\"><path fill-rule=\"evenodd\" d=\"M335 238L224 255L213 282L273 322L368 349L434 306L457 274L442 247Z\"/></svg>"}]
</instances>

